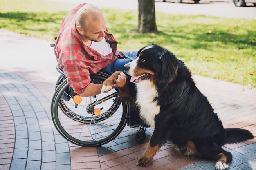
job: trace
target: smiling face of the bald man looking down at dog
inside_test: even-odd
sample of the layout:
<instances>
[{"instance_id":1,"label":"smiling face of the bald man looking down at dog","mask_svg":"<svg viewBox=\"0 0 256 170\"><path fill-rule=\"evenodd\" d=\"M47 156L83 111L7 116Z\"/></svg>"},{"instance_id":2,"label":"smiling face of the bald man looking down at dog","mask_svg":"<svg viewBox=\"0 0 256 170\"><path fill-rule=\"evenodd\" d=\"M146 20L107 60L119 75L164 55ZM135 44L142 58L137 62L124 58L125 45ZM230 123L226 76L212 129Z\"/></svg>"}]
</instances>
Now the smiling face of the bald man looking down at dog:
<instances>
[{"instance_id":1,"label":"smiling face of the bald man looking down at dog","mask_svg":"<svg viewBox=\"0 0 256 170\"><path fill-rule=\"evenodd\" d=\"M83 36L88 40L100 42L106 36L104 31L107 30L106 22L103 19L95 22L86 22L87 30L83 31Z\"/></svg>"}]
</instances>

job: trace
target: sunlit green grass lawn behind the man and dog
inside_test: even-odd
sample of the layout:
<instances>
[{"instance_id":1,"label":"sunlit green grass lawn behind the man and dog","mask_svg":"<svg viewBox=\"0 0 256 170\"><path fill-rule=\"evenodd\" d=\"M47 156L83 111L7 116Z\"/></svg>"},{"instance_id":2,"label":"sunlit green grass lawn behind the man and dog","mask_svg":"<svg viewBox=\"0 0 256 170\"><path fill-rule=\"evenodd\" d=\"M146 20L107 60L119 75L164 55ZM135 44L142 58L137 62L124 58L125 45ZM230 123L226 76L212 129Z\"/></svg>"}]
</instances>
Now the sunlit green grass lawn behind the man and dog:
<instances>
[{"instance_id":1,"label":"sunlit green grass lawn behind the man and dog","mask_svg":"<svg viewBox=\"0 0 256 170\"><path fill-rule=\"evenodd\" d=\"M0 28L53 40L76 4L0 0ZM119 50L159 44L192 73L256 87L256 20L156 13L159 33L137 33L137 11L100 7Z\"/></svg>"}]
</instances>

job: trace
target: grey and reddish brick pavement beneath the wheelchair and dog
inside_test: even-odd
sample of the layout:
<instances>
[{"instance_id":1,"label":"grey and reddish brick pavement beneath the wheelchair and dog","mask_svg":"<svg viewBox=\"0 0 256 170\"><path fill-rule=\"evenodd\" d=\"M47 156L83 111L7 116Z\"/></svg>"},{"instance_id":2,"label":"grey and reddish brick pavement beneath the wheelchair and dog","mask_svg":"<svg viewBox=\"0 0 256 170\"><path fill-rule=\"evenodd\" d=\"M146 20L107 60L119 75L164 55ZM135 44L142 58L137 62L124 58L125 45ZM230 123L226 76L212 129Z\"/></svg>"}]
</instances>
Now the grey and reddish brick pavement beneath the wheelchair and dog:
<instances>
[{"instance_id":1,"label":"grey and reddish brick pavement beneath the wheelchair and dog","mask_svg":"<svg viewBox=\"0 0 256 170\"><path fill-rule=\"evenodd\" d=\"M13 33L10 35L17 36ZM42 40L18 36L22 42L42 43ZM26 46L22 48L25 51ZM46 57L48 54L43 52L40 55ZM51 66L48 63L41 64L42 67L54 68L56 61L53 59ZM147 142L136 143L134 134L138 128L124 128L116 139L101 147L85 148L70 144L58 134L51 121L50 101L54 82L50 78L54 77L56 71L51 70L52 76L43 71L43 77L44 74L38 70L38 73L28 70L22 61L15 66L19 65L23 68L3 70L4 66L0 67L1 170L214 169L214 161L182 156L169 145L161 148L152 165L136 167L135 162L147 145ZM225 127L246 128L256 135L255 88L198 75L193 75L193 78L218 112ZM147 141L152 132L151 128L147 129ZM256 139L225 145L224 148L230 150L234 157L229 170L256 170Z\"/></svg>"}]
</instances>

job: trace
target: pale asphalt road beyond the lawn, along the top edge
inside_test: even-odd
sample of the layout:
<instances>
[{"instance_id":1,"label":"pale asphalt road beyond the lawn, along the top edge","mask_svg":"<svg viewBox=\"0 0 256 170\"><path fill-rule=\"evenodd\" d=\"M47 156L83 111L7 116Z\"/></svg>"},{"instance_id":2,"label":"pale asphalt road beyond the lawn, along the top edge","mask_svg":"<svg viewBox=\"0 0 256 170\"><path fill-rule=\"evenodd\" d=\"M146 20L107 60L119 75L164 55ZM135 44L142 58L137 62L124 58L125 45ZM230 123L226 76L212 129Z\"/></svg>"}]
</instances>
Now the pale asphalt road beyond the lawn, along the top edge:
<instances>
[{"instance_id":1,"label":"pale asphalt road beyond the lawn, along the top edge","mask_svg":"<svg viewBox=\"0 0 256 170\"><path fill-rule=\"evenodd\" d=\"M48 0L67 3L88 3L98 7L113 7L123 9L138 9L138 0ZM160 0L157 0L160 1ZM173 2L155 2L155 10L167 13L187 14L187 15L206 15L225 18L247 18L256 19L256 7L236 7L230 0L229 2L220 2L216 0L202 0L198 4L193 1L183 1L185 3L177 4ZM247 4L250 5L250 4Z\"/></svg>"}]
</instances>

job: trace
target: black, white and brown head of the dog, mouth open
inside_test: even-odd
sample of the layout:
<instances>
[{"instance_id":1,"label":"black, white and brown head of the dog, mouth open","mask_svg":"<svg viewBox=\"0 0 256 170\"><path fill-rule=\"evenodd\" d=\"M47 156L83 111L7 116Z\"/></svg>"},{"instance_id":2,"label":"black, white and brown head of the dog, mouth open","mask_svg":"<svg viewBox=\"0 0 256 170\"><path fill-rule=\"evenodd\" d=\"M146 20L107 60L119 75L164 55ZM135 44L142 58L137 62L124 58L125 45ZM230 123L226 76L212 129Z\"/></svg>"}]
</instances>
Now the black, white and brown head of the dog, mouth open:
<instances>
[{"instance_id":1,"label":"black, white and brown head of the dog, mouth open","mask_svg":"<svg viewBox=\"0 0 256 170\"><path fill-rule=\"evenodd\" d=\"M177 74L176 57L167 49L158 45L141 48L136 60L124 65L124 69L131 76L131 82L140 83L151 81L155 84L166 84Z\"/></svg>"}]
</instances>

